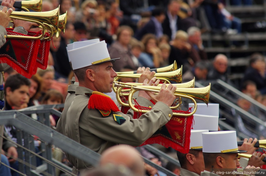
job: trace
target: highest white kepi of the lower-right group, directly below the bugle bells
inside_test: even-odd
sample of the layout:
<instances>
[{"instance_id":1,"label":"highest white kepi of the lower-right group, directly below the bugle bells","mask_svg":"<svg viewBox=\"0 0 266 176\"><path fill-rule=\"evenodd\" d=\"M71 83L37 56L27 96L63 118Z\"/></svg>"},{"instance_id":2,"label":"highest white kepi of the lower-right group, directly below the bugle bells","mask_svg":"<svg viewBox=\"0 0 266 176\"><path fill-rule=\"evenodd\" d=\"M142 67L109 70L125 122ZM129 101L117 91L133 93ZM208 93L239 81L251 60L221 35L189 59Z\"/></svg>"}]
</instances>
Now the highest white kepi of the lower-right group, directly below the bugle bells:
<instances>
[{"instance_id":1,"label":"highest white kepi of the lower-right group, directly below the bugle bells","mask_svg":"<svg viewBox=\"0 0 266 176\"><path fill-rule=\"evenodd\" d=\"M189 103L191 107L194 103ZM191 111L193 111L192 108ZM208 103L208 106L205 103L197 103L197 110L195 114L217 116L219 117L219 104L218 103Z\"/></svg>"}]
</instances>

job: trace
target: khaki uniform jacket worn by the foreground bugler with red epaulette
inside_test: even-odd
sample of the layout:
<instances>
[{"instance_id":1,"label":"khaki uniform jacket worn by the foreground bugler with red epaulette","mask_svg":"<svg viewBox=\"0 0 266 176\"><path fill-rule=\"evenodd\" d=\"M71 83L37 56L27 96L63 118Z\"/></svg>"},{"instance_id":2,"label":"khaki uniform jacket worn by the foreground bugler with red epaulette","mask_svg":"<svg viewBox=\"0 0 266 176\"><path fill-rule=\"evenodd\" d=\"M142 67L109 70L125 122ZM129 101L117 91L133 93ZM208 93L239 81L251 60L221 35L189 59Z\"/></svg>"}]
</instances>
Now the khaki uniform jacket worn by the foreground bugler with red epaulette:
<instances>
[{"instance_id":1,"label":"khaki uniform jacket worn by the foreground bugler with red epaulette","mask_svg":"<svg viewBox=\"0 0 266 176\"><path fill-rule=\"evenodd\" d=\"M129 110L128 114L113 112L103 117L98 110L87 108L89 96L85 93L92 92L85 87L76 88L76 96L66 116L65 132L69 138L100 154L116 144L141 145L172 117L172 110L166 104L157 102L153 106L149 100L142 97L137 99L138 103L153 108L139 119L132 119L132 110ZM113 114L123 117L124 123L117 123ZM91 168L89 163L84 163L74 156L70 156L68 160L79 171Z\"/></svg>"}]
</instances>

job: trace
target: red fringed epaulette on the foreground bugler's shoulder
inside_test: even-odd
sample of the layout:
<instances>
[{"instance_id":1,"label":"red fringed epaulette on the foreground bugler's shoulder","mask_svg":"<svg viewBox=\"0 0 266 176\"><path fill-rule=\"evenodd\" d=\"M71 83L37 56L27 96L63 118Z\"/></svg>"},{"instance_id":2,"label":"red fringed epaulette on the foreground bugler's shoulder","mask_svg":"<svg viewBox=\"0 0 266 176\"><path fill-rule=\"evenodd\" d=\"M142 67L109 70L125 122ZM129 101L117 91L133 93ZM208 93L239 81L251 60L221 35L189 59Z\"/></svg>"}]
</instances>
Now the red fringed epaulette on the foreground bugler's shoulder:
<instances>
[{"instance_id":1,"label":"red fringed epaulette on the foreground bugler's shoulder","mask_svg":"<svg viewBox=\"0 0 266 176\"><path fill-rule=\"evenodd\" d=\"M111 97L96 91L92 92L92 95L90 96L88 108L104 111L112 110L113 112L120 111Z\"/></svg>"}]
</instances>

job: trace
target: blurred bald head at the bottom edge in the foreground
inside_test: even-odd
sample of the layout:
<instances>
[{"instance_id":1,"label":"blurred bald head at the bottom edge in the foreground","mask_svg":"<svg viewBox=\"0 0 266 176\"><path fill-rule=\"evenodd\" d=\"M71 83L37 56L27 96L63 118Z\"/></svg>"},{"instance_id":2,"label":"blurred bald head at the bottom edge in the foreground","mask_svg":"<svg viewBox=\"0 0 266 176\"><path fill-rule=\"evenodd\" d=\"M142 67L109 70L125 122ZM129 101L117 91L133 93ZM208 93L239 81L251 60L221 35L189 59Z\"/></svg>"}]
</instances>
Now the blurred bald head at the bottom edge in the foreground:
<instances>
[{"instance_id":1,"label":"blurred bald head at the bottom edge in the foreground","mask_svg":"<svg viewBox=\"0 0 266 176\"><path fill-rule=\"evenodd\" d=\"M128 167L134 174L144 175L144 160L140 156L137 149L129 145L116 145L110 147L102 153L100 158L100 166L108 163L124 165Z\"/></svg>"}]
</instances>

